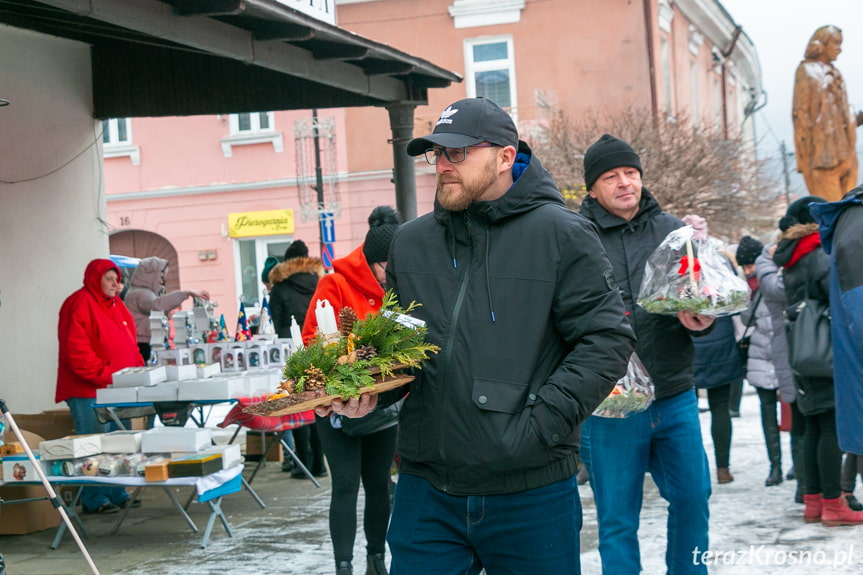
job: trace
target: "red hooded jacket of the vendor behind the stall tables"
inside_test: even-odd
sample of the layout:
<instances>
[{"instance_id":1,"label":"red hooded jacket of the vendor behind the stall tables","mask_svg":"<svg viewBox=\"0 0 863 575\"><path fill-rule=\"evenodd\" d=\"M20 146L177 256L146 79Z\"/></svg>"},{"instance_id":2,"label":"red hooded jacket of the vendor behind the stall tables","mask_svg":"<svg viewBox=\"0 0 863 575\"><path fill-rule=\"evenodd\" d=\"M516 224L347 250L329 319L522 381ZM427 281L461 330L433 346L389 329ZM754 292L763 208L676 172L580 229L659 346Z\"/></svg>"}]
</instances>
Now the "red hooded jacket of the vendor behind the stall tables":
<instances>
[{"instance_id":1,"label":"red hooded jacket of the vendor behind the stall tables","mask_svg":"<svg viewBox=\"0 0 863 575\"><path fill-rule=\"evenodd\" d=\"M84 287L60 308L57 338L60 355L54 401L96 397L111 383L111 374L144 365L135 341L135 320L119 297L108 297L102 278L120 270L111 260L93 260L84 272Z\"/></svg>"}]
</instances>

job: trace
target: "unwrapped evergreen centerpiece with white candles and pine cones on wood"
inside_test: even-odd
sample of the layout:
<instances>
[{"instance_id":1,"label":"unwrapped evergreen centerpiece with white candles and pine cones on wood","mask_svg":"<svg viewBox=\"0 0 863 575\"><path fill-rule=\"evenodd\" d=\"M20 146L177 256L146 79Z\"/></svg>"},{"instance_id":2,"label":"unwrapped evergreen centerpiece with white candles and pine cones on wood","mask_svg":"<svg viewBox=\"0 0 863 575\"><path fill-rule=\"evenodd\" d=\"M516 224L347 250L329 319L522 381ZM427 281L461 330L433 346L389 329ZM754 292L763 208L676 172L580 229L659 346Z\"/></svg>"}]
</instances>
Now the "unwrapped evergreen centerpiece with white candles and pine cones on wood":
<instances>
[{"instance_id":1,"label":"unwrapped evergreen centerpiece with white candles and pine cones on wood","mask_svg":"<svg viewBox=\"0 0 863 575\"><path fill-rule=\"evenodd\" d=\"M409 383L414 378L403 370L421 368L428 354L439 349L426 343L425 322L410 316L419 305L411 302L402 309L388 291L378 311L359 319L353 309L344 307L336 322L329 302L318 302L314 340L298 346L287 359L278 391L244 411L256 415L299 413L330 405L337 398L380 393ZM327 309L331 318L321 313Z\"/></svg>"}]
</instances>

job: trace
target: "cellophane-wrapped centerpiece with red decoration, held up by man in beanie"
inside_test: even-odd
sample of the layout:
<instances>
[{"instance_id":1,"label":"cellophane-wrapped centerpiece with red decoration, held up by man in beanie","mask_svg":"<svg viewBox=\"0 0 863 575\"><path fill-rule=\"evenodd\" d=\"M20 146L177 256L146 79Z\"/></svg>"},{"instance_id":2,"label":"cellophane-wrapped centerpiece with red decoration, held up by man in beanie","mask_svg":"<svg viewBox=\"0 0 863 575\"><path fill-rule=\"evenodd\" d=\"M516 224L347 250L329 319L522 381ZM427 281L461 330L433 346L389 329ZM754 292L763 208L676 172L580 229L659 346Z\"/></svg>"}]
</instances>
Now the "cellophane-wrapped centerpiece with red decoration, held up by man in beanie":
<instances>
[{"instance_id":1,"label":"cellophane-wrapped centerpiece with red decoration, held up by man in beanie","mask_svg":"<svg viewBox=\"0 0 863 575\"><path fill-rule=\"evenodd\" d=\"M689 311L718 317L745 310L749 287L722 247L716 238L695 239L691 226L668 234L645 264L638 304L666 315Z\"/></svg>"}]
</instances>

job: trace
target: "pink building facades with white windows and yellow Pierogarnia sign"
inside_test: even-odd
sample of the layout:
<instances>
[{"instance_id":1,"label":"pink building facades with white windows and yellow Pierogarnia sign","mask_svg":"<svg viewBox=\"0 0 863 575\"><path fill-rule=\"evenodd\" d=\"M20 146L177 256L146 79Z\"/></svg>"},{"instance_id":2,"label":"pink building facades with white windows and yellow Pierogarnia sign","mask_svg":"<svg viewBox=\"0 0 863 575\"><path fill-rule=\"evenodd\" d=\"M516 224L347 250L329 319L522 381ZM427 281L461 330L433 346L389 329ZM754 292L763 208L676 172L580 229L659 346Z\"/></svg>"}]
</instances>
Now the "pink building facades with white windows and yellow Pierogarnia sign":
<instances>
[{"instance_id":1,"label":"pink building facades with white windows and yellow Pierogarnia sign","mask_svg":"<svg viewBox=\"0 0 863 575\"><path fill-rule=\"evenodd\" d=\"M481 95L507 108L525 138L541 134L550 109L576 116L628 107L752 138L757 56L716 0L336 5L339 26L464 77L429 92L429 105L415 111L415 135L428 133L448 103ZM385 109L318 114L324 211L334 224L323 239L334 239L339 257L362 242L373 207L395 205L392 132ZM112 253L173 255L179 285L209 290L232 331L239 302L254 310L264 295L268 255L281 256L296 238L319 249L311 118L276 111L107 122ZM420 158L416 175L422 214L432 207L434 170Z\"/></svg>"}]
</instances>

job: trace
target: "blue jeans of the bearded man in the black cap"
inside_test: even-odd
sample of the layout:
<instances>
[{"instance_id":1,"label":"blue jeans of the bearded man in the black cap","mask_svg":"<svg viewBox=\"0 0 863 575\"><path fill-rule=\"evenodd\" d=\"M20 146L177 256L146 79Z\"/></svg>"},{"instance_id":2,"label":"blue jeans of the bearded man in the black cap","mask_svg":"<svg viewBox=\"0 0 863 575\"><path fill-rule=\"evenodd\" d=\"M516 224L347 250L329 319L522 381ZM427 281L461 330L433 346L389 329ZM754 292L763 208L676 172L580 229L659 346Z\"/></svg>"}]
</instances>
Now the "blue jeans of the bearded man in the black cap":
<instances>
[{"instance_id":1,"label":"blue jeans of the bearded man in the black cap","mask_svg":"<svg viewBox=\"0 0 863 575\"><path fill-rule=\"evenodd\" d=\"M396 485L390 575L578 575L575 477L519 493L459 497L413 475Z\"/></svg>"}]
</instances>

